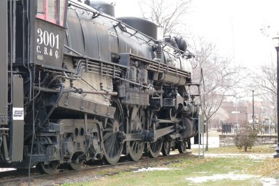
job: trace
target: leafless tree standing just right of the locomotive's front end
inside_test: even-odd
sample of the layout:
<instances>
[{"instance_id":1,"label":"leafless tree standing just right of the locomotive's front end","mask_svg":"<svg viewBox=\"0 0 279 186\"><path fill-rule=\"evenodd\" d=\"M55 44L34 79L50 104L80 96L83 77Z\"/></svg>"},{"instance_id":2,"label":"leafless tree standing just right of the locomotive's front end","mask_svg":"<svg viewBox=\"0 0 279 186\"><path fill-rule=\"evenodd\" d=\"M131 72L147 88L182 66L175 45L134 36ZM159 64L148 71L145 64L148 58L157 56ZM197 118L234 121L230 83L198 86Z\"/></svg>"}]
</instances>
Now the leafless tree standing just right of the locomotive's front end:
<instances>
[{"instance_id":1,"label":"leafless tree standing just right of the locomotive's front end","mask_svg":"<svg viewBox=\"0 0 279 186\"><path fill-rule=\"evenodd\" d=\"M209 119L216 114L227 96L235 95L234 88L241 82L241 68L235 66L230 59L217 54L216 46L199 38L193 42L190 49L195 54L197 68L193 79L202 84L201 105L206 118L206 150L208 150ZM201 72L199 73L199 70ZM197 75L201 75L197 77Z\"/></svg>"}]
</instances>

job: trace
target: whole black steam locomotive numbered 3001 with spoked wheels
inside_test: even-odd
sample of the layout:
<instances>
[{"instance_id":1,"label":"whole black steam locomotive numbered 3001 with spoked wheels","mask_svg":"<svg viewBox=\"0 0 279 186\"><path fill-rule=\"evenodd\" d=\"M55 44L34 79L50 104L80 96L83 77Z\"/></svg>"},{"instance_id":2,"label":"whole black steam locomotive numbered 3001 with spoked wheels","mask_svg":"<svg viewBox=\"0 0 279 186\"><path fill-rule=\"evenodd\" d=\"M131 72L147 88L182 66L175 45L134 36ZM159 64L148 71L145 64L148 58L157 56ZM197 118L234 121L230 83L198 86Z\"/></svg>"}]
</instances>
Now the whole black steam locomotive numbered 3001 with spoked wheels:
<instances>
[{"instance_id":1,"label":"whole black steam locomotive numbered 3001 with spoked wheels","mask_svg":"<svg viewBox=\"0 0 279 186\"><path fill-rule=\"evenodd\" d=\"M0 1L0 167L53 173L185 153L197 139L186 41L85 3Z\"/></svg>"}]
</instances>

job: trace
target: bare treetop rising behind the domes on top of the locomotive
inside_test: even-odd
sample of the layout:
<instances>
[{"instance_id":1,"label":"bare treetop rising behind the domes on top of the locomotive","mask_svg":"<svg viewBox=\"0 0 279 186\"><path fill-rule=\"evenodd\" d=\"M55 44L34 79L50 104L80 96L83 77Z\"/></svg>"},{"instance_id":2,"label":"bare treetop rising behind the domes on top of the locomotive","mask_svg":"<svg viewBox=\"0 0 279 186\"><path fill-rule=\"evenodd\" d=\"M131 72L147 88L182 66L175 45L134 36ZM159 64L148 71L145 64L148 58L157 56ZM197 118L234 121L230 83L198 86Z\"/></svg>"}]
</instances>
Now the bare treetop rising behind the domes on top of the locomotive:
<instances>
[{"instance_id":1,"label":"bare treetop rising behind the domes on top of the locomotive","mask_svg":"<svg viewBox=\"0 0 279 186\"><path fill-rule=\"evenodd\" d=\"M190 7L190 0L150 0L138 1L142 16L147 20L156 22L164 28L164 36L180 35L181 29L185 28L183 23ZM180 28L179 28L180 27ZM183 28L181 28L183 27Z\"/></svg>"}]
</instances>

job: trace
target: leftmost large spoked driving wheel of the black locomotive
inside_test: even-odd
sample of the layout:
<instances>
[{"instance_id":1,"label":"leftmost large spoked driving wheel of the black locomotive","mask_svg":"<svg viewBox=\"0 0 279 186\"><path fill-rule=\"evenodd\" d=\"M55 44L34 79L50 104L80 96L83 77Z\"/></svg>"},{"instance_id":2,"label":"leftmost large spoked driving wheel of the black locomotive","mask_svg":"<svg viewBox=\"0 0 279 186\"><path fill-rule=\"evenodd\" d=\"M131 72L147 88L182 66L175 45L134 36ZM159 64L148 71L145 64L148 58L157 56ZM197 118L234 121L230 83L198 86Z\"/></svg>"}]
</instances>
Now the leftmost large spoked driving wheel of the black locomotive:
<instances>
[{"instance_id":1,"label":"leftmost large spoked driving wheel of the black locomotive","mask_svg":"<svg viewBox=\"0 0 279 186\"><path fill-rule=\"evenodd\" d=\"M119 132L123 132L123 109L119 101L112 104L116 107L113 119L107 120L107 125L103 130L103 153L104 159L109 164L116 164L122 155L123 144L117 138Z\"/></svg>"}]
</instances>

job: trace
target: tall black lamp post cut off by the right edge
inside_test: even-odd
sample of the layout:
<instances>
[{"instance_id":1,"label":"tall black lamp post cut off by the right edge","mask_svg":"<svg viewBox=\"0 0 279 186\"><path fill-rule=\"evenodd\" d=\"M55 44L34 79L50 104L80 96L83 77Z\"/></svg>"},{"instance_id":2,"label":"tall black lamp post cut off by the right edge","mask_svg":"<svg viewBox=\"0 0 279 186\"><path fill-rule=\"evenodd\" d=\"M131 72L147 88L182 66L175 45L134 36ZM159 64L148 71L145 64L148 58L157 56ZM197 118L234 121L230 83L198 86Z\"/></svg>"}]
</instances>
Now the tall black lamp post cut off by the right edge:
<instances>
[{"instance_id":1,"label":"tall black lamp post cut off by the right edge","mask_svg":"<svg viewBox=\"0 0 279 186\"><path fill-rule=\"evenodd\" d=\"M276 49L276 56L277 56L277 146L276 146L276 155L274 155L274 158L279 158L279 36L276 38L273 38L273 44Z\"/></svg>"}]
</instances>

